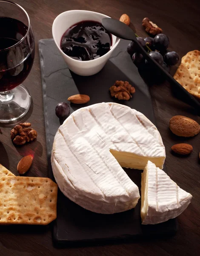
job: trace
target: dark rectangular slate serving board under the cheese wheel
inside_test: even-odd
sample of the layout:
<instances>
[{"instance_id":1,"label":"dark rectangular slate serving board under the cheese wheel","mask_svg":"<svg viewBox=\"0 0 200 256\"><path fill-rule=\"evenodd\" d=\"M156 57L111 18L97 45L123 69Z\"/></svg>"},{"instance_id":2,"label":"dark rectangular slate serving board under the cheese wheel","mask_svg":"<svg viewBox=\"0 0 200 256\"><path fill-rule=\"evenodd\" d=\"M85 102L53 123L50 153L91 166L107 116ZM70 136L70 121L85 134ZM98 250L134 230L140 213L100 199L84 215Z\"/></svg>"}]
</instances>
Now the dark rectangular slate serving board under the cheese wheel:
<instances>
[{"instance_id":1,"label":"dark rectangular slate serving board under the cheese wheel","mask_svg":"<svg viewBox=\"0 0 200 256\"><path fill-rule=\"evenodd\" d=\"M54 179L51 148L54 135L62 123L55 115L55 106L59 102L67 102L69 96L77 93L90 96L87 104L71 104L71 113L98 102L118 102L142 112L155 124L149 89L126 52L128 43L121 40L103 70L94 76L84 77L70 72L53 39L39 41L48 173L51 179ZM132 99L118 101L111 98L109 87L115 80L129 81L135 87L136 93ZM140 188L141 171L124 170ZM174 235L176 231L176 219L156 225L141 225L140 200L134 209L114 215L103 215L83 209L66 198L62 192L58 193L57 219L54 221L53 230L53 239L58 244L77 245L117 239L128 241L144 236Z\"/></svg>"}]
</instances>

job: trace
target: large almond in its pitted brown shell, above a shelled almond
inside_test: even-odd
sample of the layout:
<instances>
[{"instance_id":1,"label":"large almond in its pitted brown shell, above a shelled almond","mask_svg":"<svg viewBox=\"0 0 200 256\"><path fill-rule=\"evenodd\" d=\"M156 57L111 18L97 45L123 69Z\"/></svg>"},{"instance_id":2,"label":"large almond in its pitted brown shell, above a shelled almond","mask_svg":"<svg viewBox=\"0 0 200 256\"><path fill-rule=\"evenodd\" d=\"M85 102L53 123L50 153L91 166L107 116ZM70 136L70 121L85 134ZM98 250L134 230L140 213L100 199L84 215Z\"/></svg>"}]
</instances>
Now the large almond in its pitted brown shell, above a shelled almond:
<instances>
[{"instance_id":1,"label":"large almond in its pitted brown shell, above a shelled almond","mask_svg":"<svg viewBox=\"0 0 200 256\"><path fill-rule=\"evenodd\" d=\"M169 121L170 130L177 136L193 137L200 132L200 125L186 116L173 116Z\"/></svg>"}]
</instances>

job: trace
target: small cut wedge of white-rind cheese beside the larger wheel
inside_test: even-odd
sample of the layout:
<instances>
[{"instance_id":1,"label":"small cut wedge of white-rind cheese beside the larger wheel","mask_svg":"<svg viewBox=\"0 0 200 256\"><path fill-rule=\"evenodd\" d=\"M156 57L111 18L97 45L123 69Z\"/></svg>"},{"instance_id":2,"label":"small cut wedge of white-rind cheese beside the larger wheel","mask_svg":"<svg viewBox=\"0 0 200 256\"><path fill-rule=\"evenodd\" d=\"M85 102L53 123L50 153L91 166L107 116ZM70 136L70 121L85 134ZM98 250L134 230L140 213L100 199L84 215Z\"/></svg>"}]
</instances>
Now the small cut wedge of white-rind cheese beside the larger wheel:
<instances>
[{"instance_id":1,"label":"small cut wedge of white-rind cheese beside the larger wheel","mask_svg":"<svg viewBox=\"0 0 200 256\"><path fill-rule=\"evenodd\" d=\"M191 194L148 161L141 182L142 224L157 224L176 218L188 207L191 198Z\"/></svg>"}]
</instances>

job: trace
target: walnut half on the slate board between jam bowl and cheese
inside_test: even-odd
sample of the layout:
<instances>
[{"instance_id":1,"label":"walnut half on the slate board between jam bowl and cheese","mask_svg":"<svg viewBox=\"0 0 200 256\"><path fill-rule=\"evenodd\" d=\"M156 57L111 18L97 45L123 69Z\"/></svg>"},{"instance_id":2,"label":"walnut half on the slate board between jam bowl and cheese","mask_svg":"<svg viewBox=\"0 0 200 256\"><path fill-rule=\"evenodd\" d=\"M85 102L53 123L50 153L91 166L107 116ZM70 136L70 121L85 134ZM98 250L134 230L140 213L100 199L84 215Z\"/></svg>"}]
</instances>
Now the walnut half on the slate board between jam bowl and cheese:
<instances>
[{"instance_id":1,"label":"walnut half on the slate board between jam bowl and cheese","mask_svg":"<svg viewBox=\"0 0 200 256\"><path fill-rule=\"evenodd\" d=\"M131 93L135 93L135 88L127 81L115 81L110 87L110 93L112 97L129 100L132 98Z\"/></svg>"}]
</instances>

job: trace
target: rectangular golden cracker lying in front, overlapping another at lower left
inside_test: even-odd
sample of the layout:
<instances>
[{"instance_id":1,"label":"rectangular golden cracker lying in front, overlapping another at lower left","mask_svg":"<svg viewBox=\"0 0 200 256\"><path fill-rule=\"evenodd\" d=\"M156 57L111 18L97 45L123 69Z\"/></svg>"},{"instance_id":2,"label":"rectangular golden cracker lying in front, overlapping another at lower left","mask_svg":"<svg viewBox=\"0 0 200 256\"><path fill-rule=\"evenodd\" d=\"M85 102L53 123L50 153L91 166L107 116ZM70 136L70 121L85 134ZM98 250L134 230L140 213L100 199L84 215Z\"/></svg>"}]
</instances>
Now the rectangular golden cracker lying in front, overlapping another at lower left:
<instances>
[{"instance_id":1,"label":"rectangular golden cracker lying in front, overlapping another at lower left","mask_svg":"<svg viewBox=\"0 0 200 256\"><path fill-rule=\"evenodd\" d=\"M57 217L57 184L42 177L0 180L0 224L46 225Z\"/></svg>"}]
</instances>

